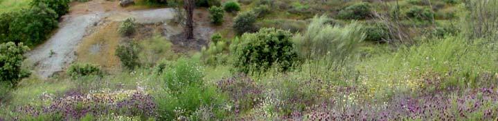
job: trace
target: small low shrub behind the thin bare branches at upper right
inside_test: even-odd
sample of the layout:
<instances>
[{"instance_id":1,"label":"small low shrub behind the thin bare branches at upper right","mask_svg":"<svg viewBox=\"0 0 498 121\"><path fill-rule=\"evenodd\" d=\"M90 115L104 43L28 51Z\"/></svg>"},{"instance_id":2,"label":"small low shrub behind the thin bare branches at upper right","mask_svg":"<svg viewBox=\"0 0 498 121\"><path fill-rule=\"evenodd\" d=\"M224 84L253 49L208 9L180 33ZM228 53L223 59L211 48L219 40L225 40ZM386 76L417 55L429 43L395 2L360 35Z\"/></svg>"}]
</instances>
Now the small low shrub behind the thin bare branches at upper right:
<instances>
[{"instance_id":1,"label":"small low shrub behind the thin bare branches at upper right","mask_svg":"<svg viewBox=\"0 0 498 121\"><path fill-rule=\"evenodd\" d=\"M434 12L427 7L413 6L407 12L406 16L418 21L429 21L434 17Z\"/></svg>"}]
</instances>

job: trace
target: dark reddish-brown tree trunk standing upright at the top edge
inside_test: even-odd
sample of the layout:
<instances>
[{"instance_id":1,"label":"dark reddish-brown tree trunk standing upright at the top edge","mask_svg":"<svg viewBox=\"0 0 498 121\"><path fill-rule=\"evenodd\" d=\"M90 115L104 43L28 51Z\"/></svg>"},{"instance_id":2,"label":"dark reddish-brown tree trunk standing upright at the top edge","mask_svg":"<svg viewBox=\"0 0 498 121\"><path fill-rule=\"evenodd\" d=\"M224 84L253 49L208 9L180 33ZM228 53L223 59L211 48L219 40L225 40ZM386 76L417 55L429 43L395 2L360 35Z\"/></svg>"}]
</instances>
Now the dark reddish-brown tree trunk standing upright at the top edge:
<instances>
[{"instance_id":1,"label":"dark reddish-brown tree trunk standing upright at the top edge","mask_svg":"<svg viewBox=\"0 0 498 121\"><path fill-rule=\"evenodd\" d=\"M185 11L187 12L186 14L186 23L185 23L185 38L188 40L194 39L194 21L193 21L193 14L194 14L194 7L195 7L195 0L184 0L185 1Z\"/></svg>"}]
</instances>

